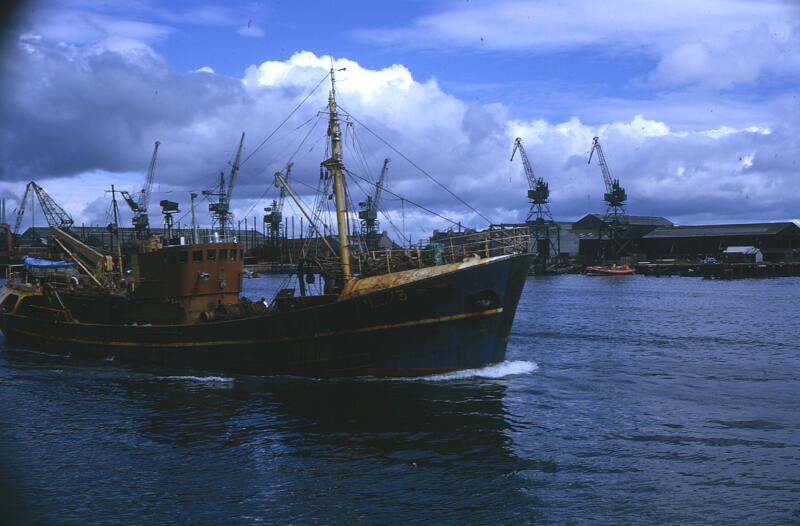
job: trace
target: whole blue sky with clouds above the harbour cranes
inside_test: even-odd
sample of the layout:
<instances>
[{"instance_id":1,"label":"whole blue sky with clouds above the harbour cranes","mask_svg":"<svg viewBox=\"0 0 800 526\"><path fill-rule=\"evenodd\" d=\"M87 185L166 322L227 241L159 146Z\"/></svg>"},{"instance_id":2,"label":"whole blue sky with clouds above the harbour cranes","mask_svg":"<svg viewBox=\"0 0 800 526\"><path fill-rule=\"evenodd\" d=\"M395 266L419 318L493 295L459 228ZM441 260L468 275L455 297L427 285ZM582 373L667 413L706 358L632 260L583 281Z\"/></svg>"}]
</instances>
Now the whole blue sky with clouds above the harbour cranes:
<instances>
[{"instance_id":1,"label":"whole blue sky with clouds above the harbour cranes","mask_svg":"<svg viewBox=\"0 0 800 526\"><path fill-rule=\"evenodd\" d=\"M188 212L242 131L237 219L260 221L290 160L309 206L333 59L351 201L388 157L395 238L523 221L515 137L556 219L605 210L594 136L630 214L800 217L800 2L40 1L9 12L0 45L9 211L36 180L76 223L106 224L106 190L140 189L158 140L153 202Z\"/></svg>"}]
</instances>

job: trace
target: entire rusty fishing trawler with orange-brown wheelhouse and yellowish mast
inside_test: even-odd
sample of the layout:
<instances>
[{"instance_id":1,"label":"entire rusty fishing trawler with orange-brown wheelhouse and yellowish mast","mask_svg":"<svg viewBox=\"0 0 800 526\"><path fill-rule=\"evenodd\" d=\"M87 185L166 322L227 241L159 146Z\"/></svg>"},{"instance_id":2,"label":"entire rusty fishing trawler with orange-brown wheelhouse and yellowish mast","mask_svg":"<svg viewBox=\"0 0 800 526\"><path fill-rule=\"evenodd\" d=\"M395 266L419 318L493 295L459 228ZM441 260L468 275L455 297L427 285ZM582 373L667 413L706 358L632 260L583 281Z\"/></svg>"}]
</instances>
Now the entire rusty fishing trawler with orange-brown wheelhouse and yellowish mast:
<instances>
[{"instance_id":1,"label":"entire rusty fishing trawler with orange-brown wheelhouse and yellowish mast","mask_svg":"<svg viewBox=\"0 0 800 526\"><path fill-rule=\"evenodd\" d=\"M168 229L137 243L123 264L119 249L108 256L53 227L71 262L10 269L0 292L8 342L73 359L254 375L414 376L504 360L530 267L527 230L406 248L400 270L388 249L352 254L333 69L330 77L330 157L321 166L332 180L338 247L320 236L332 257L301 262L299 295L242 297L244 254L230 235L199 239L195 229L187 239ZM276 182L294 198L280 173ZM324 286L312 295L315 273Z\"/></svg>"}]
</instances>

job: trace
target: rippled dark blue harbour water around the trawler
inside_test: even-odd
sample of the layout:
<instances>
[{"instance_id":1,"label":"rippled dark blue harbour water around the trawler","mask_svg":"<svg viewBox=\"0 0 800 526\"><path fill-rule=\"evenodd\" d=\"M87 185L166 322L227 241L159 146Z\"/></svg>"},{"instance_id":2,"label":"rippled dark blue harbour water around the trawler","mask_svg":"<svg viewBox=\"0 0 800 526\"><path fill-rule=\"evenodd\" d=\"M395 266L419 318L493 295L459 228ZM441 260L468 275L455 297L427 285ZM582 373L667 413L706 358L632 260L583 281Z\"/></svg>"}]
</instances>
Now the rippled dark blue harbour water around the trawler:
<instances>
[{"instance_id":1,"label":"rippled dark blue harbour water around the trawler","mask_svg":"<svg viewBox=\"0 0 800 526\"><path fill-rule=\"evenodd\" d=\"M798 300L793 278L531 278L508 362L414 381L0 352L0 506L81 525L797 524Z\"/></svg>"}]
</instances>

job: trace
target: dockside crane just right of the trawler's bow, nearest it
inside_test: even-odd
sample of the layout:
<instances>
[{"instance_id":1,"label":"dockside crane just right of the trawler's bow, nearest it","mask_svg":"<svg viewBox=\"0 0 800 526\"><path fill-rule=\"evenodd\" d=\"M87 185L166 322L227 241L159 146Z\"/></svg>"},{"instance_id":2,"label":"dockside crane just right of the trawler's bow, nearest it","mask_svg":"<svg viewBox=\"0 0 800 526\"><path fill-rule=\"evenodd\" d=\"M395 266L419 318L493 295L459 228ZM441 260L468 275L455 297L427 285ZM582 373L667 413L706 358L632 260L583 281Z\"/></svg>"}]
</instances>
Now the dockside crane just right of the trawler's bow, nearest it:
<instances>
[{"instance_id":1,"label":"dockside crane just right of the trawler's bow, nearest it","mask_svg":"<svg viewBox=\"0 0 800 526\"><path fill-rule=\"evenodd\" d=\"M556 259L561 252L561 229L553 219L550 212L550 186L542 177L536 177L533 165L528 159L528 153L522 145L522 138L514 139L514 149L511 150L511 159L519 152L525 177L528 179L528 199L531 202L530 210L525 222L531 229L531 252L535 253L540 263L547 265L551 259Z\"/></svg>"}]
</instances>

